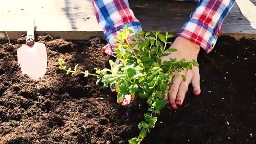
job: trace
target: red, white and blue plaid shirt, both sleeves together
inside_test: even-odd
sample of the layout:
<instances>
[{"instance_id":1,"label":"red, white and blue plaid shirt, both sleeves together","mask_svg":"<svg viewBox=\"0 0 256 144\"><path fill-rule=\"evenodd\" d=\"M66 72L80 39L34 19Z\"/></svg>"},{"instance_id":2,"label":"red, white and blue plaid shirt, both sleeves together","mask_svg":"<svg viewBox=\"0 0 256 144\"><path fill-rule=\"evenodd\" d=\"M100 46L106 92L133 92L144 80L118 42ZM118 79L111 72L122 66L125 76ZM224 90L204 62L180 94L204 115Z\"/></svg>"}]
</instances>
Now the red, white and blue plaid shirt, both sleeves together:
<instances>
[{"instance_id":1,"label":"red, white and blue plaid shirt, both sleeves together","mask_svg":"<svg viewBox=\"0 0 256 144\"><path fill-rule=\"evenodd\" d=\"M224 18L235 0L172 0L194 1L198 6L176 36L182 36L200 45L209 53L216 44ZM139 20L129 8L128 0L92 0L96 18L111 48L117 34L128 26L135 34L142 30Z\"/></svg>"}]
</instances>

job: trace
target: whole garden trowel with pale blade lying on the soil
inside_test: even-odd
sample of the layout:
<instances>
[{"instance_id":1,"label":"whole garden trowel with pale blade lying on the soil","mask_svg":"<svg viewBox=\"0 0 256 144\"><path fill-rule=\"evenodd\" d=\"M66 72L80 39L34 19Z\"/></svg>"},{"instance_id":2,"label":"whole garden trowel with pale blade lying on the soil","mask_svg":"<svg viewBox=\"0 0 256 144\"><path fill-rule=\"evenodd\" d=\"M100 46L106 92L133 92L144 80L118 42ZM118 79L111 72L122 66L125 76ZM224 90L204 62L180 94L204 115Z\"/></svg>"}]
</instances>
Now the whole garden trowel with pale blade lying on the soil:
<instances>
[{"instance_id":1,"label":"whole garden trowel with pale blade lying on the soil","mask_svg":"<svg viewBox=\"0 0 256 144\"><path fill-rule=\"evenodd\" d=\"M45 44L35 42L34 30L35 19L33 18L28 24L26 44L18 48L17 57L22 74L38 80L46 73L47 53Z\"/></svg>"}]
</instances>

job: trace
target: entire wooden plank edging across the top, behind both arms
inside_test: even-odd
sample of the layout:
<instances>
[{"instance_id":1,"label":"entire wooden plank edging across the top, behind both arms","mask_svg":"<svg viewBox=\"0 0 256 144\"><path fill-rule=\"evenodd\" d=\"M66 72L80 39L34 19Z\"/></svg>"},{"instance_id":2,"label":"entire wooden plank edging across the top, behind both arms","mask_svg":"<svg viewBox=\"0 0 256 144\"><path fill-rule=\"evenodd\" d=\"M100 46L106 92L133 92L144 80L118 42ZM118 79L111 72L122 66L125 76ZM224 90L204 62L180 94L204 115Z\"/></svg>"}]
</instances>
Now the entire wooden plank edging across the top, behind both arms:
<instances>
[{"instance_id":1,"label":"entire wooden plank edging across the top, behind both arms","mask_svg":"<svg viewBox=\"0 0 256 144\"><path fill-rule=\"evenodd\" d=\"M197 2L170 0L129 0L145 31L161 30L175 34L195 10ZM256 1L236 0L224 20L221 34L256 37ZM98 26L91 0L4 0L0 5L0 39L14 40L26 33L29 18L36 18L36 33L57 38L84 40L104 38Z\"/></svg>"}]
</instances>

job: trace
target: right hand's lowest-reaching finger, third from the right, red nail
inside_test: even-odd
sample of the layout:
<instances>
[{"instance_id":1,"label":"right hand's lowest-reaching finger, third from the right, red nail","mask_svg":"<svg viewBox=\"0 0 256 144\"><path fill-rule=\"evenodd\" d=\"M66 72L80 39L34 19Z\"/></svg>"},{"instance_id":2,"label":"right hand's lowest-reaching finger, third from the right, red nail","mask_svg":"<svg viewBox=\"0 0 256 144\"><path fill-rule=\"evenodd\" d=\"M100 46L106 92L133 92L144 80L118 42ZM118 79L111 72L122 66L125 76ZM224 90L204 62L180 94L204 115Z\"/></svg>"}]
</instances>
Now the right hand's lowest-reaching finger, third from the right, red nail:
<instances>
[{"instance_id":1,"label":"right hand's lowest-reaching finger, third from the right, red nail","mask_svg":"<svg viewBox=\"0 0 256 144\"><path fill-rule=\"evenodd\" d=\"M169 102L172 106L172 108L176 109L177 108L177 105L175 103L175 100L176 100L176 96L177 96L177 93L178 93L178 90L179 90L179 86L180 86L180 83L182 81L182 77L181 76L178 76L175 80L174 80L174 83L173 85L170 86L170 89L169 90L172 90L172 93L168 94L168 98L169 98Z\"/></svg>"}]
</instances>

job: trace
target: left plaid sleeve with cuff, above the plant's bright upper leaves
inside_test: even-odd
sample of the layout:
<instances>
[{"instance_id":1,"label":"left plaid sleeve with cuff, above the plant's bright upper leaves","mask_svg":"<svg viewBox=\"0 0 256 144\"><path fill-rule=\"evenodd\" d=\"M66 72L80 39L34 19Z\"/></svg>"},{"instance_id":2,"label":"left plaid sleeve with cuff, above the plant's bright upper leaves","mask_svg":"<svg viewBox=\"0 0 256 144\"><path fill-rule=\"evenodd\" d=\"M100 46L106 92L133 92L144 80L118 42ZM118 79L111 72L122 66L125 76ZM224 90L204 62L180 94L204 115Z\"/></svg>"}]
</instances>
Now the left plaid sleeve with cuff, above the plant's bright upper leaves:
<instances>
[{"instance_id":1,"label":"left plaid sleeve with cuff, above the plant's bright upper leaves","mask_svg":"<svg viewBox=\"0 0 256 144\"><path fill-rule=\"evenodd\" d=\"M117 31L128 26L135 34L142 31L139 20L129 8L128 0L92 0L100 28L111 48L114 48Z\"/></svg>"}]
</instances>

